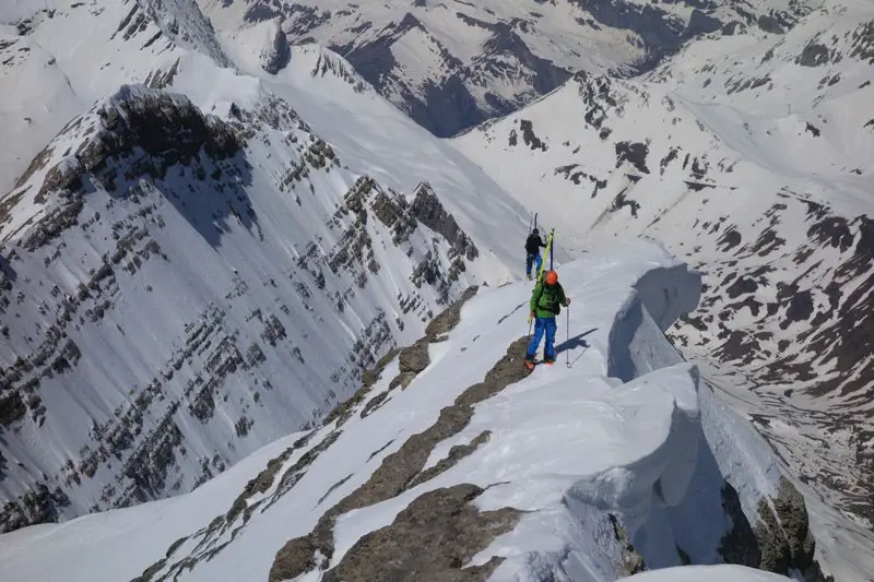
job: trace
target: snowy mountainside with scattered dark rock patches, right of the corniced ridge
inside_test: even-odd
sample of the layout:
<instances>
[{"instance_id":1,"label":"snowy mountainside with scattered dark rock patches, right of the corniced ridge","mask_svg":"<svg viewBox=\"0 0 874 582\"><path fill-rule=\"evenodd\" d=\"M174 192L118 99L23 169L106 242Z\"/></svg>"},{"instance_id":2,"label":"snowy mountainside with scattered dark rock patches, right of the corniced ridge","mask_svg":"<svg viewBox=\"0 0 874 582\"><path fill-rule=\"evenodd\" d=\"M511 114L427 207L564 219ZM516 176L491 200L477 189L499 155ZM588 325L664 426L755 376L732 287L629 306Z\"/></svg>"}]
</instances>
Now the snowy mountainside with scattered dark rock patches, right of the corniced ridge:
<instances>
[{"instance_id":1,"label":"snowy mountainside with scattered dark rock patches, right of the corniced ridge","mask_svg":"<svg viewBox=\"0 0 874 582\"><path fill-rule=\"evenodd\" d=\"M701 307L672 335L865 528L872 23L870 3L826 2L786 34L698 40L646 79L579 74L454 141L563 230L642 234L701 269Z\"/></svg>"}]
</instances>

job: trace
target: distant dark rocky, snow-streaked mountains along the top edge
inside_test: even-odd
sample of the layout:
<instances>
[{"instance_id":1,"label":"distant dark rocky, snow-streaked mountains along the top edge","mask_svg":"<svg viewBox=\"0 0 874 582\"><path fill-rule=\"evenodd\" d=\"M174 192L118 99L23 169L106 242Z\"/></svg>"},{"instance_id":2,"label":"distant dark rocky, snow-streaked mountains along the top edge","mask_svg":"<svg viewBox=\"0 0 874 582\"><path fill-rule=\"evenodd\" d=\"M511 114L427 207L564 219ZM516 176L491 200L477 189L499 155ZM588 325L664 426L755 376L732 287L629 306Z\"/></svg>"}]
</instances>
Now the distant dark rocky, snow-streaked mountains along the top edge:
<instances>
[{"instance_id":1,"label":"distant dark rocky, snow-streaked mountains along the top edge","mask_svg":"<svg viewBox=\"0 0 874 582\"><path fill-rule=\"evenodd\" d=\"M808 11L783 0L199 1L223 33L272 22L282 41L343 55L439 136L511 112L576 71L628 74L698 34L723 25L782 31Z\"/></svg>"}]
</instances>

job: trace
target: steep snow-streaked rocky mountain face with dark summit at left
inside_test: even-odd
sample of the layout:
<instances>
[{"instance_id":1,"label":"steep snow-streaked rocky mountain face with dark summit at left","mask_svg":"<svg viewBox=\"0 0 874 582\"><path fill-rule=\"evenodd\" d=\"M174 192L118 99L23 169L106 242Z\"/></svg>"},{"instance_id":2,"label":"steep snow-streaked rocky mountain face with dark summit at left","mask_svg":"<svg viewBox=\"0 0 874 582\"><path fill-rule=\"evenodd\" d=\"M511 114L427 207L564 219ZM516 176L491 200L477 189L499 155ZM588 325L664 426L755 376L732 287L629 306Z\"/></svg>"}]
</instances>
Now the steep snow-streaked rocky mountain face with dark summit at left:
<instances>
[{"instance_id":1,"label":"steep snow-streaked rocky mountain face with dark summit at left","mask_svg":"<svg viewBox=\"0 0 874 582\"><path fill-rule=\"evenodd\" d=\"M272 96L216 117L126 86L3 209L2 531L190 490L317 423L477 254L427 183L350 175Z\"/></svg>"}]
</instances>

